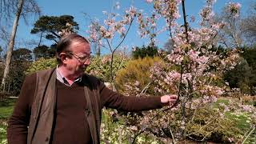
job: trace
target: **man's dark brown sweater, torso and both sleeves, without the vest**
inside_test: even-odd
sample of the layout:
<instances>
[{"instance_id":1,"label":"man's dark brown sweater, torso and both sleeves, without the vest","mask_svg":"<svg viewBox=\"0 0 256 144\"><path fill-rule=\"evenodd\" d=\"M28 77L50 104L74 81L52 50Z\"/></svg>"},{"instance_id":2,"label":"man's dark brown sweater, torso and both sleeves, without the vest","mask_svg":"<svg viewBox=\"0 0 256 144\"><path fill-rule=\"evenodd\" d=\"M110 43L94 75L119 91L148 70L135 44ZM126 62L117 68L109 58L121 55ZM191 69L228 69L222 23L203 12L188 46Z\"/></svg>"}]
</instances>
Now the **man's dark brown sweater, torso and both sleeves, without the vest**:
<instances>
[{"instance_id":1,"label":"man's dark brown sweater, torso and both sleeves, without the vest","mask_svg":"<svg viewBox=\"0 0 256 144\"><path fill-rule=\"evenodd\" d=\"M162 107L160 97L126 97L109 90L102 82L99 82L97 78L91 78L91 80L94 83L98 83L102 106L127 111L152 110ZM10 144L26 144L28 134L27 126L29 126L30 123L35 83L36 74L27 76L25 82L23 82L21 94L8 122L7 139ZM90 134L88 134L88 124L85 118L86 114L84 113L86 100L85 98L82 98L85 96L83 95L83 92L80 92L82 91L81 86L75 84L74 86L67 87L60 82L57 82L57 85L57 109L55 111L55 126L52 128L52 142L90 143ZM84 137L82 137L82 135Z\"/></svg>"}]
</instances>

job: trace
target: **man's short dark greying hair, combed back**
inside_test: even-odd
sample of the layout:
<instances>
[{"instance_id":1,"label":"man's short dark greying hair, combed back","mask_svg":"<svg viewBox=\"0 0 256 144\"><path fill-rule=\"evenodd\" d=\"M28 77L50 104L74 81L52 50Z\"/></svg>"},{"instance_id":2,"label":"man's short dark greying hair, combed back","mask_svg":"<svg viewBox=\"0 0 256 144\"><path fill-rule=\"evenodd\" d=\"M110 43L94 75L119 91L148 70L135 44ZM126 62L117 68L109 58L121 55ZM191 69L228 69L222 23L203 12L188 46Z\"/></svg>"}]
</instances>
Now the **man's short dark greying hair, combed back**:
<instances>
[{"instance_id":1,"label":"man's short dark greying hair, combed back","mask_svg":"<svg viewBox=\"0 0 256 144\"><path fill-rule=\"evenodd\" d=\"M64 35L60 41L57 44L57 50L56 50L56 58L58 64L62 63L61 58L59 57L59 54L62 52L69 52L69 46L72 44L72 42L86 42L89 43L86 38L82 37L78 34L66 34Z\"/></svg>"}]
</instances>

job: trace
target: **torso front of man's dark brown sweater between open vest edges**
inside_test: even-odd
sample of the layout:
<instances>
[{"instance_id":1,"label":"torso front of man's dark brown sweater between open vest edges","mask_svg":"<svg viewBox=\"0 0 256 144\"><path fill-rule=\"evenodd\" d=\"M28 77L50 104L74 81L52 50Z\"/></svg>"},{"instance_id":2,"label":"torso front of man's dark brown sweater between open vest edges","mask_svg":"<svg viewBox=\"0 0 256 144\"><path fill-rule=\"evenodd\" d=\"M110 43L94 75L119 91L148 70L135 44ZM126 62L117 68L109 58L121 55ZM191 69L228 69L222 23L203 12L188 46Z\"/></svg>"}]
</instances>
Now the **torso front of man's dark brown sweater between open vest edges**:
<instances>
[{"instance_id":1,"label":"torso front of man's dark brown sweater between open vest edges","mask_svg":"<svg viewBox=\"0 0 256 144\"><path fill-rule=\"evenodd\" d=\"M66 86L57 81L52 144L91 143L84 94L83 86L78 86L77 83Z\"/></svg>"}]
</instances>

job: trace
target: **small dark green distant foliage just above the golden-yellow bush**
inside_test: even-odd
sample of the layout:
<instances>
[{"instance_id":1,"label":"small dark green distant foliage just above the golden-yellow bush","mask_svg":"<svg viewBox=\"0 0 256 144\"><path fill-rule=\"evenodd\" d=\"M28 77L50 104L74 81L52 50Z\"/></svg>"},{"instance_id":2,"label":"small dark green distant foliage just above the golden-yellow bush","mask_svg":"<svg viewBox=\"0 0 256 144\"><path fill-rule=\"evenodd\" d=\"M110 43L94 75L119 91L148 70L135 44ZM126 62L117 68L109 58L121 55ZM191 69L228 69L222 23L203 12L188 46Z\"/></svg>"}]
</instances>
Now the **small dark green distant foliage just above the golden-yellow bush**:
<instances>
[{"instance_id":1,"label":"small dark green distant foliage just above the golden-yellow bush","mask_svg":"<svg viewBox=\"0 0 256 144\"><path fill-rule=\"evenodd\" d=\"M136 46L132 52L133 58L154 57L158 55L158 47L156 46Z\"/></svg>"}]
</instances>

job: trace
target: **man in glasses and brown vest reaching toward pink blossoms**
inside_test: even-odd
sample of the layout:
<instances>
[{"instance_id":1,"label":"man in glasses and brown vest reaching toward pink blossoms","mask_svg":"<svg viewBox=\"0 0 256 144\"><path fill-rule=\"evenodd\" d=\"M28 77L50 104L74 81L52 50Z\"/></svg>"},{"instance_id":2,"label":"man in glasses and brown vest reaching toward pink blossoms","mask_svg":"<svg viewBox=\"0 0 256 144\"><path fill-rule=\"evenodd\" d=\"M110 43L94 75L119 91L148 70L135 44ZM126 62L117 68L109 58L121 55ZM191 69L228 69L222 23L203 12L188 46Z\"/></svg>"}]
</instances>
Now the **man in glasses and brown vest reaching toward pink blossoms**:
<instances>
[{"instance_id":1,"label":"man in glasses and brown vest reaching toward pink blossoms","mask_svg":"<svg viewBox=\"0 0 256 144\"><path fill-rule=\"evenodd\" d=\"M177 100L176 95L125 97L84 74L90 65L90 44L78 34L66 35L58 42L56 57L56 69L26 77L9 120L10 144L98 144L103 106L152 110Z\"/></svg>"}]
</instances>

